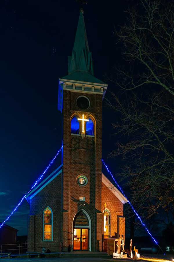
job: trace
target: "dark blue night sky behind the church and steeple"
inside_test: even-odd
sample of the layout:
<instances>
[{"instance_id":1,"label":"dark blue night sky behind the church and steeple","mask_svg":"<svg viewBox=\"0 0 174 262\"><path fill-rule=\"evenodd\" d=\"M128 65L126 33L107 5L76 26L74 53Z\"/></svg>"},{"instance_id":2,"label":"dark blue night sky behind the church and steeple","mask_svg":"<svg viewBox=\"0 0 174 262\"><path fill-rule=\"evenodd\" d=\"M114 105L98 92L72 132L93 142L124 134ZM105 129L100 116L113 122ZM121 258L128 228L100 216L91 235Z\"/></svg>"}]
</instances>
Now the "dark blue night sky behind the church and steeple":
<instances>
[{"instance_id":1,"label":"dark blue night sky behind the church and steeple","mask_svg":"<svg viewBox=\"0 0 174 262\"><path fill-rule=\"evenodd\" d=\"M114 26L124 23L127 1L88 1L84 19L95 77L105 81L120 59ZM79 19L75 0L6 0L0 4L0 221L3 222L61 146L57 110L58 79L67 75ZM117 86L108 87L106 96ZM103 108L103 158L113 148L111 124L117 116ZM119 161L119 160L118 160ZM107 160L113 171L117 161ZM119 163L118 163L119 166ZM27 234L26 201L8 220Z\"/></svg>"}]
</instances>

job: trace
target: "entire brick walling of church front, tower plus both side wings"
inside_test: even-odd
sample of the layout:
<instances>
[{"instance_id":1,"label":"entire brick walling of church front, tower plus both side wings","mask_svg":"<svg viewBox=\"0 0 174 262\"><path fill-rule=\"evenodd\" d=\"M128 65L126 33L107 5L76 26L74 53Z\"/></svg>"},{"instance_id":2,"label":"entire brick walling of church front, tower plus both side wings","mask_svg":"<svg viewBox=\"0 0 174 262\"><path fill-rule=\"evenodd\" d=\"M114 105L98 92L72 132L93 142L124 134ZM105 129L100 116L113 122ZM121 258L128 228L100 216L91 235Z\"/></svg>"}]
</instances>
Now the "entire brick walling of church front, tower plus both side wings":
<instances>
[{"instance_id":1,"label":"entire brick walling of church front, tower plus both side wings","mask_svg":"<svg viewBox=\"0 0 174 262\"><path fill-rule=\"evenodd\" d=\"M28 246L31 251L41 251L42 247L51 252L71 250L73 247L73 219L85 210L91 220L91 251L102 251L104 203L111 212L111 236L125 232L123 204L102 183L102 95L86 95L91 103L83 114L94 118L95 136L71 135L70 118L73 114L82 115L75 101L84 93L64 90L63 109L63 172L51 181L30 201L28 217ZM79 186L77 176L84 175L88 184ZM62 187L63 186L63 187ZM85 197L85 202L79 201ZM82 206L85 204L85 206ZM50 206L53 211L53 241L43 241L43 211Z\"/></svg>"}]
</instances>

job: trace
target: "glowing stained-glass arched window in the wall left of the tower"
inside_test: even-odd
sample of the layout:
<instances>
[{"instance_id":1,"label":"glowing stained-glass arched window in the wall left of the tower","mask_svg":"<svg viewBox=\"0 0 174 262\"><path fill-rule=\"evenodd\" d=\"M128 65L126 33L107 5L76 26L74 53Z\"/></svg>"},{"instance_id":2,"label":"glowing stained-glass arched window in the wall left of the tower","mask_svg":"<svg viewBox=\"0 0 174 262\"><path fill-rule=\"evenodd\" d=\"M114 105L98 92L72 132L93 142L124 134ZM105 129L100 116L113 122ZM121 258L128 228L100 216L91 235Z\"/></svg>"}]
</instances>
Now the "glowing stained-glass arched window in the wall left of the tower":
<instances>
[{"instance_id":1,"label":"glowing stained-glass arched window in the wall left of the tower","mask_svg":"<svg viewBox=\"0 0 174 262\"><path fill-rule=\"evenodd\" d=\"M49 206L43 212L43 240L52 241L52 210Z\"/></svg>"}]
</instances>

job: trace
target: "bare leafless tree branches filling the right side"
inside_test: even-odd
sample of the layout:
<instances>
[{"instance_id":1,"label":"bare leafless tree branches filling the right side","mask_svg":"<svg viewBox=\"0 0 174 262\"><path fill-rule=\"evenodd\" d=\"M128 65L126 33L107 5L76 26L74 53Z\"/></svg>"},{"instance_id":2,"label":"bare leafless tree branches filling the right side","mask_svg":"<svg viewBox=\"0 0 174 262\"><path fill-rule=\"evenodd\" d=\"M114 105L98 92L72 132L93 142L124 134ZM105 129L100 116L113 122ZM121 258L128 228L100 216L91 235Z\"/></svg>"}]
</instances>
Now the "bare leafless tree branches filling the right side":
<instances>
[{"instance_id":1,"label":"bare leafless tree branches filling the right side","mask_svg":"<svg viewBox=\"0 0 174 262\"><path fill-rule=\"evenodd\" d=\"M149 219L174 214L174 2L141 0L126 15L114 32L124 67L110 78L122 90L107 100L119 116L110 157L122 156L120 180Z\"/></svg>"}]
</instances>

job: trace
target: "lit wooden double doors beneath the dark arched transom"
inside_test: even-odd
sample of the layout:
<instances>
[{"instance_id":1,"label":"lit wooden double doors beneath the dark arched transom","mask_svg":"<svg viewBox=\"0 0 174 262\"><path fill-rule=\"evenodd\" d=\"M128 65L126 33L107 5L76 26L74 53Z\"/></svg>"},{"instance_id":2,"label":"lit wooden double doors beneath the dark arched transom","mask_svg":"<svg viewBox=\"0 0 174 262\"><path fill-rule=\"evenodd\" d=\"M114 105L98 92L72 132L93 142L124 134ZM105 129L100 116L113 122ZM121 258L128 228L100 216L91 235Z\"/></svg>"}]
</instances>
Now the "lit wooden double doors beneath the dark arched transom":
<instances>
[{"instance_id":1,"label":"lit wooden double doors beneath the dark arched transom","mask_svg":"<svg viewBox=\"0 0 174 262\"><path fill-rule=\"evenodd\" d=\"M74 250L89 250L89 228L74 228Z\"/></svg>"}]
</instances>

